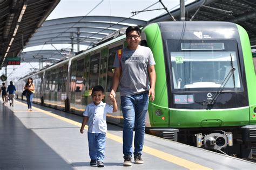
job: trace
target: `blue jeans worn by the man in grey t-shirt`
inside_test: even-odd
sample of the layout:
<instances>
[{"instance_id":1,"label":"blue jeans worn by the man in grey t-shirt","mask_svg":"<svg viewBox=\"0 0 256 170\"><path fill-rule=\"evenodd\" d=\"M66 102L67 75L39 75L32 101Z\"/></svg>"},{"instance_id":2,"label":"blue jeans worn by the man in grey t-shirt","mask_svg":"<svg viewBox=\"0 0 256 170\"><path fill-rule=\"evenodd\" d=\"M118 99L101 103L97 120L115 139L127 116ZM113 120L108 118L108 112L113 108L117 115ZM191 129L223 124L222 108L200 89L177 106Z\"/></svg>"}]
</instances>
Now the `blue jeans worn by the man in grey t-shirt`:
<instances>
[{"instance_id":1,"label":"blue jeans worn by the man in grey t-shirt","mask_svg":"<svg viewBox=\"0 0 256 170\"><path fill-rule=\"evenodd\" d=\"M133 128L135 129L133 154L142 154L145 118L149 107L148 93L121 96L121 107L124 117L123 154L125 156L132 155Z\"/></svg>"}]
</instances>

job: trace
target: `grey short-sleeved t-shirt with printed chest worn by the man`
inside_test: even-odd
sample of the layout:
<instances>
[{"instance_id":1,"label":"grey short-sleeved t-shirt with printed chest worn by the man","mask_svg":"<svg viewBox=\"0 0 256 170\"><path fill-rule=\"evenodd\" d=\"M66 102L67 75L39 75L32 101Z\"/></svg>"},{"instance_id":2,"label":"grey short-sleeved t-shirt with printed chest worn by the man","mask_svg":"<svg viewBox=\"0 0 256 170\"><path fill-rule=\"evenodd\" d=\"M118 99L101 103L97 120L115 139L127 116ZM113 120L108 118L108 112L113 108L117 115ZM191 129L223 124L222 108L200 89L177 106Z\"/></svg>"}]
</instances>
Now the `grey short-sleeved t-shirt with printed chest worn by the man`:
<instances>
[{"instance_id":1,"label":"grey short-sleeved t-shirt with printed chest worn by the man","mask_svg":"<svg viewBox=\"0 0 256 170\"><path fill-rule=\"evenodd\" d=\"M120 63L120 96L130 96L150 89L147 68L156 65L156 62L149 47L139 45L137 49L124 48L120 62L116 54L113 67L120 67Z\"/></svg>"}]
</instances>

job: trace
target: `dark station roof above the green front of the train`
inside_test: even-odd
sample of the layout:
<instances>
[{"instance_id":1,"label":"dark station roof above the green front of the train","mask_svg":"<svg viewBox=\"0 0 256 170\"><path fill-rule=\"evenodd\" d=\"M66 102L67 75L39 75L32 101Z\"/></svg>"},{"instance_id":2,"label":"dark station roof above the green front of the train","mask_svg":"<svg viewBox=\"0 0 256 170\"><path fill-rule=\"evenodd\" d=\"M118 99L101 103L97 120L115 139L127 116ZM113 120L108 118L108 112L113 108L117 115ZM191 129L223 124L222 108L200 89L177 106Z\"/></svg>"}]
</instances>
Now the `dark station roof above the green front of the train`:
<instances>
[{"instance_id":1,"label":"dark station roof above the green front of the train","mask_svg":"<svg viewBox=\"0 0 256 170\"><path fill-rule=\"evenodd\" d=\"M179 20L179 9L171 11ZM192 17L194 16L194 17ZM171 20L168 14L149 22ZM256 47L256 1L255 0L200 0L186 6L185 20L223 21L236 23L247 31L251 46Z\"/></svg>"}]
</instances>

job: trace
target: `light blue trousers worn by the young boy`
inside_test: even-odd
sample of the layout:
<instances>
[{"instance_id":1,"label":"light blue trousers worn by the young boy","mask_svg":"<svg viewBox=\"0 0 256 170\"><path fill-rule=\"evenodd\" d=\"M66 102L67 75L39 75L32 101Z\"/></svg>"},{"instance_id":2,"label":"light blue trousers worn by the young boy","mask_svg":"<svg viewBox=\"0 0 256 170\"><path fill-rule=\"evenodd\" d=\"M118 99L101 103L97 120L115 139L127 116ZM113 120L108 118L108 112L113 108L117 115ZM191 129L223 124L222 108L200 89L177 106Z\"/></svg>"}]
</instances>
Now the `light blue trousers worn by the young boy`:
<instances>
[{"instance_id":1,"label":"light blue trousers worn by the young boy","mask_svg":"<svg viewBox=\"0 0 256 170\"><path fill-rule=\"evenodd\" d=\"M106 133L87 132L87 134L90 158L103 162L105 158Z\"/></svg>"}]
</instances>

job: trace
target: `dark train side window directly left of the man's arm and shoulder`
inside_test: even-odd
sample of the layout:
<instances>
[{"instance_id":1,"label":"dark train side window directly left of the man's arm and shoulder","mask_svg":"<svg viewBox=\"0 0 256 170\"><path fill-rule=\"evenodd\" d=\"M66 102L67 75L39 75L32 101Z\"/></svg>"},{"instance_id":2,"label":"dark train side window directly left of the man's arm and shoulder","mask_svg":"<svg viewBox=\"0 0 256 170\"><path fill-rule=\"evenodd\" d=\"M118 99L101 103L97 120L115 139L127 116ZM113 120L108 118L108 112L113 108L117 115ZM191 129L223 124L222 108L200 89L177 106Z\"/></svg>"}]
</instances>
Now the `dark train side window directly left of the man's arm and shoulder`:
<instances>
[{"instance_id":1,"label":"dark train side window directly left of the man's arm and shoulder","mask_svg":"<svg viewBox=\"0 0 256 170\"><path fill-rule=\"evenodd\" d=\"M123 45L119 45L117 47L113 47L109 49L109 60L107 62L107 86L106 86L107 92L110 92L112 88L112 79L114 75L113 73L114 57L116 56L117 50L122 48L123 48Z\"/></svg>"}]
</instances>

